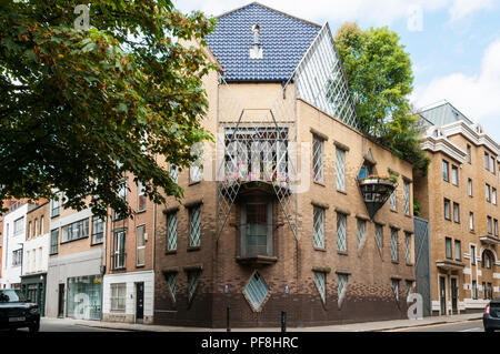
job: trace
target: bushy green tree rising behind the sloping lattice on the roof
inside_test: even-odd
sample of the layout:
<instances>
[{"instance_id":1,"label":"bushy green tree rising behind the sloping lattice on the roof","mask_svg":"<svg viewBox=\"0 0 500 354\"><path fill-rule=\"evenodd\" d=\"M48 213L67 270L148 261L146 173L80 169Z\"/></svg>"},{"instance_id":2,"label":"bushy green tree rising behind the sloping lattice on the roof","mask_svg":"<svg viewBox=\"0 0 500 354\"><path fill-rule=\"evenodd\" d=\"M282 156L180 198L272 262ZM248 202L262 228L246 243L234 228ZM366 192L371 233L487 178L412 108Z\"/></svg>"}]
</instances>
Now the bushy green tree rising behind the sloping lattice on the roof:
<instances>
[{"instance_id":1,"label":"bushy green tree rising behind the sloping lattice on the roof","mask_svg":"<svg viewBox=\"0 0 500 354\"><path fill-rule=\"evenodd\" d=\"M420 149L419 119L408 100L411 61L398 34L388 28L362 31L348 22L337 31L336 45L361 131L426 173L429 159Z\"/></svg>"}]
</instances>

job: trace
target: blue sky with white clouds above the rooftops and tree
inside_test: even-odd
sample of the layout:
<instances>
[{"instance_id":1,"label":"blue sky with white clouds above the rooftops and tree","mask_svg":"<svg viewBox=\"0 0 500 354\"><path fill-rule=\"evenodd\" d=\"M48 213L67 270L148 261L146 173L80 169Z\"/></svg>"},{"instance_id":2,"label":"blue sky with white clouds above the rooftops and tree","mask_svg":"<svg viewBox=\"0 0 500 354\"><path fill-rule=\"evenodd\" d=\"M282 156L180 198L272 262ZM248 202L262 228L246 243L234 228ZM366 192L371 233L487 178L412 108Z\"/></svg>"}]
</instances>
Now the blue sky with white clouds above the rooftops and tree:
<instances>
[{"instance_id":1,"label":"blue sky with white clouds above the rooftops and tree","mask_svg":"<svg viewBox=\"0 0 500 354\"><path fill-rule=\"evenodd\" d=\"M250 0L173 0L182 12L219 16ZM260 0L334 32L346 21L400 36L413 68L410 101L419 109L447 100L500 143L500 1Z\"/></svg>"}]
</instances>

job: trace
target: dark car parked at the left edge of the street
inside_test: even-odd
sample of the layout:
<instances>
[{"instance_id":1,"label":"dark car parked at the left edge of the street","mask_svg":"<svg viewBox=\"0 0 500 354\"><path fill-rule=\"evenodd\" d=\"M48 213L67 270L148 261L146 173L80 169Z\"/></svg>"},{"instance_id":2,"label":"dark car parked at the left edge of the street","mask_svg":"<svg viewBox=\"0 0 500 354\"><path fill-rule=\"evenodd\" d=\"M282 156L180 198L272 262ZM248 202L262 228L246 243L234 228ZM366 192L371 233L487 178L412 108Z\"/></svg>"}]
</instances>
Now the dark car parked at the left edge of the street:
<instances>
[{"instance_id":1,"label":"dark car parked at the left edge of the street","mask_svg":"<svg viewBox=\"0 0 500 354\"><path fill-rule=\"evenodd\" d=\"M40 330L40 311L37 304L26 299L19 290L0 290L0 328L16 331L28 327Z\"/></svg>"}]
</instances>

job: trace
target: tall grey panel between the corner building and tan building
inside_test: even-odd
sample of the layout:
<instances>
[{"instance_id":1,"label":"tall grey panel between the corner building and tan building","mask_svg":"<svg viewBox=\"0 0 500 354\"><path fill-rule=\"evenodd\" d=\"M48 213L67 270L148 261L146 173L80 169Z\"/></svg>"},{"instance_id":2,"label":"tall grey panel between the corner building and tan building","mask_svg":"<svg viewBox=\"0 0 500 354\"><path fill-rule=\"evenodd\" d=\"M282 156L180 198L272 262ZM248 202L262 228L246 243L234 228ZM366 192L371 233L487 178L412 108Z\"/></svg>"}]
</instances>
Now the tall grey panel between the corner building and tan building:
<instances>
[{"instance_id":1,"label":"tall grey panel between the corner building and tan building","mask_svg":"<svg viewBox=\"0 0 500 354\"><path fill-rule=\"evenodd\" d=\"M431 315L431 267L429 222L414 216L414 275L416 293L422 295L423 315Z\"/></svg>"}]
</instances>

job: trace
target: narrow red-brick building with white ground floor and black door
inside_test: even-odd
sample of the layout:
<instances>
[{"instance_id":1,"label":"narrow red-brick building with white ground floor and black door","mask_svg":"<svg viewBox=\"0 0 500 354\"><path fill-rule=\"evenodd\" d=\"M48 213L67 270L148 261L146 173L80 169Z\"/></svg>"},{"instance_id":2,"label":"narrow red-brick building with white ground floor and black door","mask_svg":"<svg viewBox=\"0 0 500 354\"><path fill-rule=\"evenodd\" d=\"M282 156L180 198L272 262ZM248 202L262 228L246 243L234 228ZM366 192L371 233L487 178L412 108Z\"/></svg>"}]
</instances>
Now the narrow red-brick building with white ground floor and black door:
<instances>
[{"instance_id":1,"label":"narrow red-brick building with white ground floor and black door","mask_svg":"<svg viewBox=\"0 0 500 354\"><path fill-rule=\"evenodd\" d=\"M120 195L134 210L133 218L109 214L103 282L103 320L152 323L154 296L154 210L140 182L124 176Z\"/></svg>"}]
</instances>

